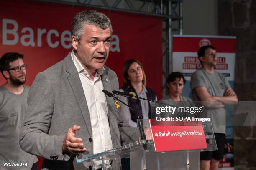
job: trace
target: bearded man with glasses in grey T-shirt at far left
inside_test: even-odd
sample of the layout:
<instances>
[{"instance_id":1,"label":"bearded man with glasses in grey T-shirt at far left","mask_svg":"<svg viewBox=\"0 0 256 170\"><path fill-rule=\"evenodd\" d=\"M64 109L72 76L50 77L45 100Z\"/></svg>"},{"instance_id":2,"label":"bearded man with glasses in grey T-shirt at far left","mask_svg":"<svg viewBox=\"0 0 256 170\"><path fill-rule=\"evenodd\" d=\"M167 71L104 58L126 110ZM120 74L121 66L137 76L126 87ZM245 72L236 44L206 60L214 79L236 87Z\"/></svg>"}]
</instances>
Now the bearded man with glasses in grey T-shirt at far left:
<instances>
[{"instance_id":1,"label":"bearded man with glasses in grey T-shirt at far left","mask_svg":"<svg viewBox=\"0 0 256 170\"><path fill-rule=\"evenodd\" d=\"M37 157L24 152L19 145L20 126L28 107L23 55L8 52L0 59L0 70L6 83L0 86L0 169L38 170Z\"/></svg>"}]
</instances>

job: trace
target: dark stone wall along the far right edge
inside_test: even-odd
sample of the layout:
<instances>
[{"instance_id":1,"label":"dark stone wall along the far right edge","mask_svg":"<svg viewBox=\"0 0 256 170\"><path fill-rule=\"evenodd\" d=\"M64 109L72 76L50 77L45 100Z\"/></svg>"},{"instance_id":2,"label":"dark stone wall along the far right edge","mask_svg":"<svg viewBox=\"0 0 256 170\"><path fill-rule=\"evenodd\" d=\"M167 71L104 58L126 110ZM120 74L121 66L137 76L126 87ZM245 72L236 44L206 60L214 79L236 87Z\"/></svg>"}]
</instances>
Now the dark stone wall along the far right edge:
<instances>
[{"instance_id":1,"label":"dark stone wall along the far right edge","mask_svg":"<svg viewBox=\"0 0 256 170\"><path fill-rule=\"evenodd\" d=\"M235 92L256 100L256 0L218 0L218 35L236 36ZM256 126L234 128L235 170L256 170Z\"/></svg>"}]
</instances>

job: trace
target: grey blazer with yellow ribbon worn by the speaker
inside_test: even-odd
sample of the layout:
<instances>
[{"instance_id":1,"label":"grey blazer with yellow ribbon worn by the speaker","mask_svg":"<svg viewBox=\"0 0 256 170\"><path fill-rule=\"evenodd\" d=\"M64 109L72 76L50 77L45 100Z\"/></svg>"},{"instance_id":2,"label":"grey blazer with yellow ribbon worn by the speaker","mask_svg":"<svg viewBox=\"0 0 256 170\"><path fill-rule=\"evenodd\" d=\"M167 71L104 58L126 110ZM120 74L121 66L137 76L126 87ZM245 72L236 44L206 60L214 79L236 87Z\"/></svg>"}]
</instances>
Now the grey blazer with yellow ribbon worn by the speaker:
<instances>
[{"instance_id":1,"label":"grey blazer with yellow ribbon worn by the speaker","mask_svg":"<svg viewBox=\"0 0 256 170\"><path fill-rule=\"evenodd\" d=\"M101 75L105 90L118 90L115 72L104 66ZM138 140L139 131L123 125L120 107L107 97L108 121L113 148ZM43 170L86 170L92 162L76 163L75 155L62 152L65 135L73 125L81 126L76 136L82 138L87 154L93 153L89 110L77 69L71 54L61 62L40 72L28 94L28 110L20 129L21 148L44 158ZM120 160L113 160L113 170L120 169ZM87 168L85 168L87 167Z\"/></svg>"}]
</instances>

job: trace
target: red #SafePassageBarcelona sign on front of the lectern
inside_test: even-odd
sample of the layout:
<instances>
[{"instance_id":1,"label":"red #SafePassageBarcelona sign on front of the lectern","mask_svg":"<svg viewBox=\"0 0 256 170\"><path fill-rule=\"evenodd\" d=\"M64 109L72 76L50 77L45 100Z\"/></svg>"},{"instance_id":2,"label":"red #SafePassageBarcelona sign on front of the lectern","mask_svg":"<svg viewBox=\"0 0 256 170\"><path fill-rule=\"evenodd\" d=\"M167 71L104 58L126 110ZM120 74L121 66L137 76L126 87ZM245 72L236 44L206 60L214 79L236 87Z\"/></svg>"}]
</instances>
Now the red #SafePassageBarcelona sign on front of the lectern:
<instances>
[{"instance_id":1,"label":"red #SafePassageBarcelona sign on front of the lectern","mask_svg":"<svg viewBox=\"0 0 256 170\"><path fill-rule=\"evenodd\" d=\"M156 152L207 148L200 121L149 120Z\"/></svg>"}]
</instances>

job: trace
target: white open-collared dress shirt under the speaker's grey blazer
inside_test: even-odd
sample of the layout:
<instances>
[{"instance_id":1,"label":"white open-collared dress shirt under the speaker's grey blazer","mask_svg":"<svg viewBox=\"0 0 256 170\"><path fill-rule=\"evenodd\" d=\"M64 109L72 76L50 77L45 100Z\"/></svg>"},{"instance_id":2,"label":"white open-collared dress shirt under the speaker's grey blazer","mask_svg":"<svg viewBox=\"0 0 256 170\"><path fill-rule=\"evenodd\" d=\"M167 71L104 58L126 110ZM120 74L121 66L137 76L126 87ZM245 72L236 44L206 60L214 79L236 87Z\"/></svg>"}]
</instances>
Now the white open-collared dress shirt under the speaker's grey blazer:
<instances>
[{"instance_id":1,"label":"white open-collared dress shirt under the speaker's grey blazer","mask_svg":"<svg viewBox=\"0 0 256 170\"><path fill-rule=\"evenodd\" d=\"M92 125L93 153L95 154L105 150L110 150L113 148L113 145L108 122L108 107L105 95L102 92L103 84L100 77L100 75L103 74L104 67L102 67L100 70L97 70L94 80L92 80L87 70L84 69L82 64L75 56L74 50L71 53L71 57L74 65L77 68L90 114ZM102 161L95 161L94 169L99 168L102 168ZM107 170L111 169L109 160L104 161L104 168Z\"/></svg>"}]
</instances>

